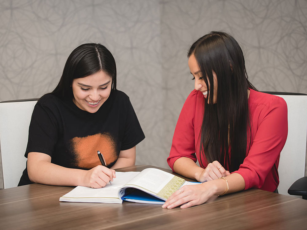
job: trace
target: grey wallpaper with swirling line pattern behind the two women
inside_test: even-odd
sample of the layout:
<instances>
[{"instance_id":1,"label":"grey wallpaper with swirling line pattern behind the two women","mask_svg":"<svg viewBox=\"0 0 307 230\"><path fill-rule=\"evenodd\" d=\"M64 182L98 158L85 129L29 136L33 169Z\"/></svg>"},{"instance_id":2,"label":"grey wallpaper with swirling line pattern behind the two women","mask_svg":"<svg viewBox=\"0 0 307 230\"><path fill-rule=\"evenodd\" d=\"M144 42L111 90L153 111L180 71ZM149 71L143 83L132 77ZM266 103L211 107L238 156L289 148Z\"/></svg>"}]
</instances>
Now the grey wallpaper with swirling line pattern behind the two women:
<instances>
[{"instance_id":1,"label":"grey wallpaper with swirling line pattern behind the two women","mask_svg":"<svg viewBox=\"0 0 307 230\"><path fill-rule=\"evenodd\" d=\"M52 91L75 47L102 43L146 135L136 164L167 167L194 87L186 53L212 30L238 40L258 90L307 93L305 0L0 0L0 100Z\"/></svg>"}]
</instances>

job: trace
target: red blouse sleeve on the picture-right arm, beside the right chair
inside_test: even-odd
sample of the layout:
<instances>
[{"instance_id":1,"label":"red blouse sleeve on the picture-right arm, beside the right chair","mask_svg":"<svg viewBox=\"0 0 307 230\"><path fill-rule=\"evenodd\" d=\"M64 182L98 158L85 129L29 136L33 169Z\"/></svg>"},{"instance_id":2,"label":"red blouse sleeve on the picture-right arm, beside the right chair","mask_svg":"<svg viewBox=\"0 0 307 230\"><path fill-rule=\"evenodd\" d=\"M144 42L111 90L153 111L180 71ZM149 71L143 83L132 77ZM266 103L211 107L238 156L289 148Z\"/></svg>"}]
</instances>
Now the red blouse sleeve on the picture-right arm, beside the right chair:
<instances>
[{"instance_id":1,"label":"red blouse sleeve on the picture-right arm, beside the right chair","mask_svg":"<svg viewBox=\"0 0 307 230\"><path fill-rule=\"evenodd\" d=\"M262 187L266 176L279 160L288 135L288 111L281 97L270 99L267 109L252 118L258 125L255 138L246 158L235 171L243 176L245 189Z\"/></svg>"}]
</instances>

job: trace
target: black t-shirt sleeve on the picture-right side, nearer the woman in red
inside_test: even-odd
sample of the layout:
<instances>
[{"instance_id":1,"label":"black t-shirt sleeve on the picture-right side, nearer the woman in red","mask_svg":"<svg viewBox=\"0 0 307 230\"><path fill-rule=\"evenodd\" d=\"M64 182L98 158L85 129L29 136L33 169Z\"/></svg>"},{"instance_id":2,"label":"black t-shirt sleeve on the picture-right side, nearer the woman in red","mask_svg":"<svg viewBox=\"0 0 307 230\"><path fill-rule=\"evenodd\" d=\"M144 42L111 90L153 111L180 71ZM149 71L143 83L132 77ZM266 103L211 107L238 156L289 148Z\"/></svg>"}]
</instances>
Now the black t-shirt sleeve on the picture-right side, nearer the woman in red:
<instances>
[{"instance_id":1,"label":"black t-shirt sleeve on the picture-right side, nearer the woman in red","mask_svg":"<svg viewBox=\"0 0 307 230\"><path fill-rule=\"evenodd\" d=\"M141 125L138 121L138 117L135 114L129 98L126 101L126 107L126 122L121 150L131 149L145 138Z\"/></svg>"}]
</instances>

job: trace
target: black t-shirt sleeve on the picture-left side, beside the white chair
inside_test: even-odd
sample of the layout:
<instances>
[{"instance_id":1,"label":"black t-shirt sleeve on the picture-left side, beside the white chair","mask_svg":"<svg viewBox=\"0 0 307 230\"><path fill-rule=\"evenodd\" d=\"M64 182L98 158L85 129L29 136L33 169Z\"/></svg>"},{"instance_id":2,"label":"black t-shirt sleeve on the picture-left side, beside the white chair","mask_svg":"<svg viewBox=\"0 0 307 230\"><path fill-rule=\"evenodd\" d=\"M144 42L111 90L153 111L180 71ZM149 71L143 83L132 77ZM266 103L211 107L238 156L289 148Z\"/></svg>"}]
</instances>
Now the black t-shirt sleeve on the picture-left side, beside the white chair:
<instances>
[{"instance_id":1,"label":"black t-shirt sleeve on the picture-left side, beside the white chair","mask_svg":"<svg viewBox=\"0 0 307 230\"><path fill-rule=\"evenodd\" d=\"M38 101L34 107L29 126L29 139L25 152L45 153L52 156L58 137L58 126L53 109Z\"/></svg>"}]
</instances>

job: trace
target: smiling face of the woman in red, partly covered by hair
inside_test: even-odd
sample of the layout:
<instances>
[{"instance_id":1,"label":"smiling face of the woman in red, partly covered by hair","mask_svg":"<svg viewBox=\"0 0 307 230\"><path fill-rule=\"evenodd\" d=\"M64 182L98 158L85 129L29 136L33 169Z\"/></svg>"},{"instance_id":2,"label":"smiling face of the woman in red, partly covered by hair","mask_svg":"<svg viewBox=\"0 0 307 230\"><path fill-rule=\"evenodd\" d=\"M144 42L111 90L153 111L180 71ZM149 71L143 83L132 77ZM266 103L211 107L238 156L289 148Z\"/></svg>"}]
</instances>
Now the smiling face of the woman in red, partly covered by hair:
<instances>
[{"instance_id":1,"label":"smiling face of the woman in red, partly covered by hair","mask_svg":"<svg viewBox=\"0 0 307 230\"><path fill-rule=\"evenodd\" d=\"M190 72L193 75L193 77L195 78L195 89L199 90L200 92L203 93L204 98L207 98L208 96L208 104L209 104L209 100L210 100L210 82L208 80L208 85L209 85L209 89L207 89L207 85L206 82L203 79L203 76L201 74L199 65L196 61L196 58L194 56L194 54L192 54L189 57L188 60L188 65L190 68ZM216 73L212 70L212 74L213 74L213 91L214 91L214 95L213 95L213 104L216 104L217 102L217 77L216 77ZM207 77L208 79L208 77Z\"/></svg>"}]
</instances>

